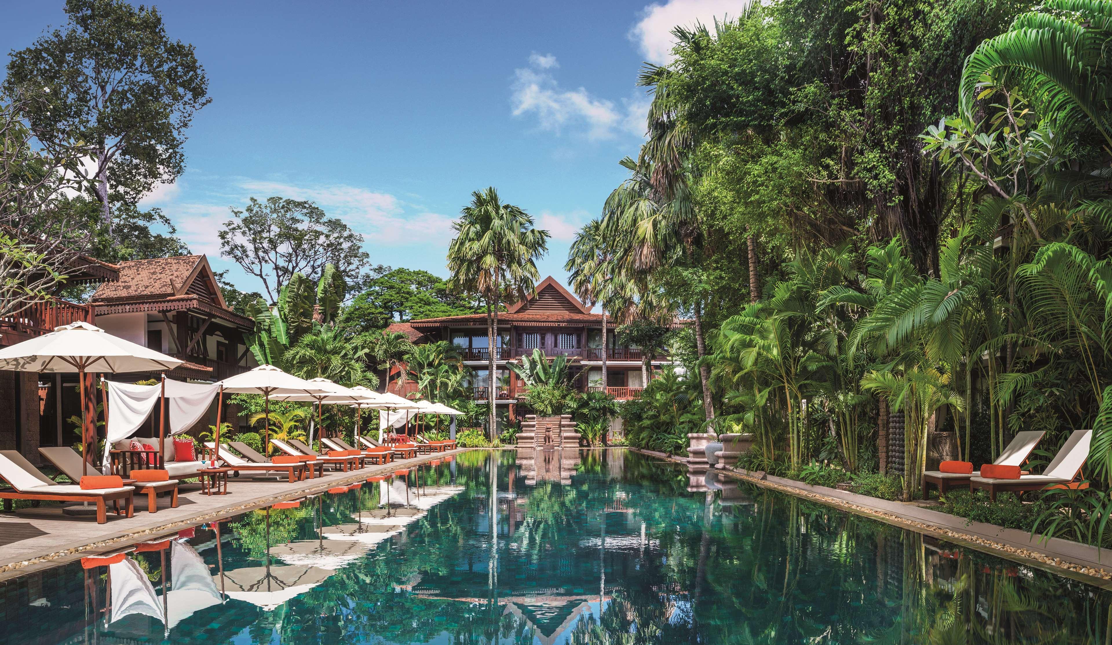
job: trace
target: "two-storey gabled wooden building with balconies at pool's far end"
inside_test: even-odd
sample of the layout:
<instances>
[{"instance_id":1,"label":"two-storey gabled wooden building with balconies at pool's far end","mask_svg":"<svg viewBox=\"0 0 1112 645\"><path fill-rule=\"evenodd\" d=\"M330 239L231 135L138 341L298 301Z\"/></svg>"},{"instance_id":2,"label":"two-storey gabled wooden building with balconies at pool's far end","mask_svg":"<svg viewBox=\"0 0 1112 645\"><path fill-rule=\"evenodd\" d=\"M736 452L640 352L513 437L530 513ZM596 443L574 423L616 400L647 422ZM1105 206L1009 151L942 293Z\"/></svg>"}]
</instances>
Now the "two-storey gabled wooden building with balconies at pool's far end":
<instances>
[{"instance_id":1,"label":"two-storey gabled wooden building with balconies at pool's far end","mask_svg":"<svg viewBox=\"0 0 1112 645\"><path fill-rule=\"evenodd\" d=\"M545 278L528 298L498 315L498 337L494 349L499 384L496 405L508 408L509 418L515 418L518 394L524 391L525 384L506 366L520 363L522 356L532 355L538 348L548 357L567 356L575 376L574 385L583 391L605 387L618 399L637 396L645 386L642 350L620 344L616 327L607 318L604 330L602 314L593 312L590 307L552 277ZM470 385L475 399L489 398L490 344L486 314L395 322L387 330L403 333L415 344L453 343L473 370ZM605 384L602 367L604 351L607 357ZM668 363L671 359L667 356L651 357L654 369ZM417 389L413 379L407 379L403 386L396 373L390 374L387 381L389 391L401 396Z\"/></svg>"}]
</instances>

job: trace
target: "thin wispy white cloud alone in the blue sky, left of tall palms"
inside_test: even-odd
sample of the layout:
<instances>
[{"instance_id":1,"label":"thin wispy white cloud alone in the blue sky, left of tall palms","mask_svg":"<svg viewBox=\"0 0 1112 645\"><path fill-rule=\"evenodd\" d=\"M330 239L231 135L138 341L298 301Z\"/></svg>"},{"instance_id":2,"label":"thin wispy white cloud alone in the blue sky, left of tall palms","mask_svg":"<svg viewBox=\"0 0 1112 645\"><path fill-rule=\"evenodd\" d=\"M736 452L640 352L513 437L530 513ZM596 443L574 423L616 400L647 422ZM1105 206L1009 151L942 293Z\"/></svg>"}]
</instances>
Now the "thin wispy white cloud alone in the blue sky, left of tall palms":
<instances>
[{"instance_id":1,"label":"thin wispy white cloud alone in the blue sky, left of tall palms","mask_svg":"<svg viewBox=\"0 0 1112 645\"><path fill-rule=\"evenodd\" d=\"M548 69L558 67L556 57L529 57L529 67L514 70L510 103L515 117L534 115L543 130L560 132L566 127L585 127L588 139L612 139L619 132L643 136L647 102L638 99L614 101L593 97L585 88L559 87Z\"/></svg>"}]
</instances>

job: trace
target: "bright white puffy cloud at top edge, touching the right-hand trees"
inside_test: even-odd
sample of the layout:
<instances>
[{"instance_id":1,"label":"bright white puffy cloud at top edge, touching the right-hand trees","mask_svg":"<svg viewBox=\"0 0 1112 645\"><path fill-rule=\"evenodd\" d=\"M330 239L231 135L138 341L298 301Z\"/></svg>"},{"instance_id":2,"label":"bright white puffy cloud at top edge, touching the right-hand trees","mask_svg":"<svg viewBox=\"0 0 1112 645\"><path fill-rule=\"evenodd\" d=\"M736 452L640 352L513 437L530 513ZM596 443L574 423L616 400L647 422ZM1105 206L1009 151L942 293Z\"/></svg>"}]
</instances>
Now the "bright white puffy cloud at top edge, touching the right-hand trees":
<instances>
[{"instance_id":1,"label":"bright white puffy cloud at top edge, touching the right-hand trees","mask_svg":"<svg viewBox=\"0 0 1112 645\"><path fill-rule=\"evenodd\" d=\"M749 3L749 0L667 0L664 4L649 4L629 30L629 39L641 48L645 60L666 64L672 62L675 27L694 27L698 21L713 28L715 18L737 18Z\"/></svg>"}]
</instances>

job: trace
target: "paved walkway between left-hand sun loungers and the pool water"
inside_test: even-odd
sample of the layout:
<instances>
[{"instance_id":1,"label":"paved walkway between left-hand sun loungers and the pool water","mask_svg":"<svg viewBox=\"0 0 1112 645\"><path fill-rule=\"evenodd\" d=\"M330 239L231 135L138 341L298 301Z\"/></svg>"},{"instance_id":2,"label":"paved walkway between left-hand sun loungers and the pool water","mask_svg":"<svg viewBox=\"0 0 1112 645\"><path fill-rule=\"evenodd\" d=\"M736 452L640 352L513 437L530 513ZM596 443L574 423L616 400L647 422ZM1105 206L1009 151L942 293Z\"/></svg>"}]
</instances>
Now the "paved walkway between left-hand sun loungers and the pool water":
<instances>
[{"instance_id":1,"label":"paved walkway between left-hand sun loungers and the pool water","mask_svg":"<svg viewBox=\"0 0 1112 645\"><path fill-rule=\"evenodd\" d=\"M95 517L63 515L61 506L0 513L0 580L466 450L421 455L350 473L327 473L294 484L285 475L280 482L254 482L250 474L244 473L228 478L227 495L203 495L196 484L180 489L177 508L170 508L169 496L159 497L158 513L148 513L147 496L137 495L133 517L117 517L109 506L107 524L97 524Z\"/></svg>"}]
</instances>

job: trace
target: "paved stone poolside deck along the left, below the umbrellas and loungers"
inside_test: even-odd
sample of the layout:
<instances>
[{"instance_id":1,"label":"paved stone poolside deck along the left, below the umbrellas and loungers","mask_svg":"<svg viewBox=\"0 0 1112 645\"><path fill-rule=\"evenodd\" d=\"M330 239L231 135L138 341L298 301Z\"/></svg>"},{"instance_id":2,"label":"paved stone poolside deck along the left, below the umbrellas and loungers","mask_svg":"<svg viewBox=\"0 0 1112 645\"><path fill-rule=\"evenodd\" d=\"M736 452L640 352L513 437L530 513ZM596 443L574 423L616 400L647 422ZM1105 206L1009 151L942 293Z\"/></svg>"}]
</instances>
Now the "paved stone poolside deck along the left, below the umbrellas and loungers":
<instances>
[{"instance_id":1,"label":"paved stone poolside deck along the left, below the umbrellas and loungers","mask_svg":"<svg viewBox=\"0 0 1112 645\"><path fill-rule=\"evenodd\" d=\"M81 534L83 537L64 539L62 542L57 539L47 540L50 543L49 546L36 550L22 552L18 555L6 553L4 547L0 547L0 582L27 575L43 568L68 564L85 556L112 553L138 542L166 536L167 534L171 534L190 526L197 526L208 522L222 520L236 515L242 515L244 513L270 506L271 504L276 504L278 502L297 499L307 495L319 495L321 493L326 493L332 487L354 484L356 482L365 482L369 477L381 476L398 469L413 468L435 459L460 455L471 449L473 448L458 448L445 453L421 455L420 457L401 459L384 466L365 466L364 468L350 473L331 473L324 476L317 476L312 479L304 479L295 484L289 484L288 482L252 483L252 488L258 486L261 488L269 488L269 490L266 490L262 495L228 499L230 503L228 506L212 508L211 506L206 505L207 507L198 508L195 513L189 513L189 505L183 504L173 509L160 507L158 513L148 514L145 503L142 500L137 500L135 517L130 519L112 519L113 516L111 513L109 513L110 519L108 524L95 524L91 519L87 518L68 519L66 520L67 528L75 529L75 535ZM247 482L232 480L230 482L229 489L235 489L237 484L242 485L247 484ZM190 496L193 494L201 495L199 490L190 490L188 494ZM181 494L182 499L185 498L185 493ZM201 496L200 499L203 499L205 502L221 502L225 497ZM19 513L20 512L4 514L3 516L6 518L16 516L20 520L27 520L32 524L34 523L36 517L19 517ZM40 522L57 522L43 518L39 519Z\"/></svg>"}]
</instances>

